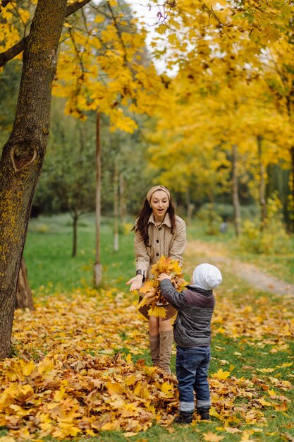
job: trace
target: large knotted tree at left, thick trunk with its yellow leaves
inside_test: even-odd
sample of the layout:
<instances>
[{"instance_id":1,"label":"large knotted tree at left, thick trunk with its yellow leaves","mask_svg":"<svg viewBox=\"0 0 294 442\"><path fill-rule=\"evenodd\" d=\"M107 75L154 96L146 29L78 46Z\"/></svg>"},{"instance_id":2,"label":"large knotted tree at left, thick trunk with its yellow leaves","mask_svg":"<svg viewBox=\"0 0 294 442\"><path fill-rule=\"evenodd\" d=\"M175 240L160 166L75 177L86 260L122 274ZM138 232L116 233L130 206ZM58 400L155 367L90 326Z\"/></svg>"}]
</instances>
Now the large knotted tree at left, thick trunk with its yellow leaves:
<instances>
[{"instance_id":1,"label":"large knotted tree at left, thick trunk with its yellow leaves","mask_svg":"<svg viewBox=\"0 0 294 442\"><path fill-rule=\"evenodd\" d=\"M6 356L10 348L20 260L49 134L51 88L59 38L66 17L88 2L59 0L58 4L53 4L39 0L20 7L15 1L1 1L0 66L20 56L23 49L24 53L16 119L0 162L0 357ZM140 108L145 112L150 106L150 100L145 100L145 88L152 85L152 75L146 76L142 63L137 63L135 73L132 71L136 57L141 58L143 40L135 35L134 26L131 36L121 31L118 21L124 18L119 13L116 16L115 6L116 1L107 2L109 12L101 32L90 25L87 30L87 22L84 23L87 34L73 32L73 24L66 23L55 91L62 95L62 88L66 90L71 113L80 115L99 109L111 116L114 126L132 131L135 124L128 116L124 117L123 107L130 104L128 97L132 97L130 111ZM99 9L96 16L99 16ZM104 52L99 52L101 47ZM98 76L103 72L99 83Z\"/></svg>"}]
</instances>

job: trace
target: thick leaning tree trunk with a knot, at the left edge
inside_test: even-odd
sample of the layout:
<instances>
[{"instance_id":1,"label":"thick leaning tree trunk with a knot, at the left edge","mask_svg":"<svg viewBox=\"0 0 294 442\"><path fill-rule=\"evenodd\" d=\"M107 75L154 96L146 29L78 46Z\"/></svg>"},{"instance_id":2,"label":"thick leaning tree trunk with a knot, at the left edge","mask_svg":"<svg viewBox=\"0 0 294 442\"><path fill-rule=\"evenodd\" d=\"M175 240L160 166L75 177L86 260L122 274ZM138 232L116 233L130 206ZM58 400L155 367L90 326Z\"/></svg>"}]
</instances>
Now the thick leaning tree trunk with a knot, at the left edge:
<instances>
[{"instance_id":1,"label":"thick leaning tree trunk with a knot, at the left edge","mask_svg":"<svg viewBox=\"0 0 294 442\"><path fill-rule=\"evenodd\" d=\"M0 357L11 347L16 286L49 135L51 85L66 0L39 0L23 54L16 118L0 161Z\"/></svg>"}]
</instances>

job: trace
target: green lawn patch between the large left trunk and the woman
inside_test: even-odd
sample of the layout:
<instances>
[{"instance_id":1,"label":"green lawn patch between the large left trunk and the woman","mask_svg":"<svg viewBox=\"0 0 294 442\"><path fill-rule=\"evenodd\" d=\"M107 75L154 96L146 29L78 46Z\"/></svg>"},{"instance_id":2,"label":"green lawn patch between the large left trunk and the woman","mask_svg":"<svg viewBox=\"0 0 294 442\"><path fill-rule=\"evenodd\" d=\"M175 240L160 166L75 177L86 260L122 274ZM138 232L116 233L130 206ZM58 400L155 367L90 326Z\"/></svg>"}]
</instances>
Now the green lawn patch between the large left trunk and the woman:
<instances>
[{"instance_id":1,"label":"green lawn patch between the large left trunk and the woman","mask_svg":"<svg viewBox=\"0 0 294 442\"><path fill-rule=\"evenodd\" d=\"M71 292L93 283L95 262L94 217L82 217L78 227L78 253L74 258L73 229L69 215L31 220L25 244L25 261L32 289L44 286L45 292ZM121 234L119 250L114 251L112 220L101 227L102 286L125 288L135 273L133 234Z\"/></svg>"}]
</instances>

